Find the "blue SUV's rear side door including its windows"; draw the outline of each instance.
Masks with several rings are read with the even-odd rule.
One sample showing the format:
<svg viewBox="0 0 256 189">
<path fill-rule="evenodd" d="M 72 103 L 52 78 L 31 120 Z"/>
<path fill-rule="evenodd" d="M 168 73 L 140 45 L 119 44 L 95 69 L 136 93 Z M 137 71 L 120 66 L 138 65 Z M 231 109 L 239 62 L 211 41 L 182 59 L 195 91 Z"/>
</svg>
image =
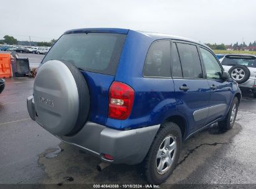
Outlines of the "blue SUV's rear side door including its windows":
<svg viewBox="0 0 256 189">
<path fill-rule="evenodd" d="M 189 133 L 204 126 L 209 111 L 210 88 L 197 45 L 173 42 L 172 76 L 178 110 L 188 118 Z"/>
</svg>

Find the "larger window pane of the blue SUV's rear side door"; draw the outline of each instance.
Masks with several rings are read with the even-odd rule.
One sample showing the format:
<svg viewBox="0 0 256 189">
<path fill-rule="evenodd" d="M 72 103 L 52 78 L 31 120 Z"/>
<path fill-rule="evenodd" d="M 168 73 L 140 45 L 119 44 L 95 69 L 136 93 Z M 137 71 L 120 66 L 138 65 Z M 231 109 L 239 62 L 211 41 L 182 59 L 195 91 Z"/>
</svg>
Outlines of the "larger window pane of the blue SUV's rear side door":
<svg viewBox="0 0 256 189">
<path fill-rule="evenodd" d="M 196 45 L 177 43 L 184 78 L 203 78 Z"/>
</svg>

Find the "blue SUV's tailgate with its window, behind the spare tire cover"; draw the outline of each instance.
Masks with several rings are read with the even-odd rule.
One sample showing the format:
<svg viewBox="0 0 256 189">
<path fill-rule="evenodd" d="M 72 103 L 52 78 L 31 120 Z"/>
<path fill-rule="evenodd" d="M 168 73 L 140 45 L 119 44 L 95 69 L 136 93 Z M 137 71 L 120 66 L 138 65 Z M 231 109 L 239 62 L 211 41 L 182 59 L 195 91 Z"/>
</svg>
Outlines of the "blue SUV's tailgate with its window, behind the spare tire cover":
<svg viewBox="0 0 256 189">
<path fill-rule="evenodd" d="M 77 67 L 90 90 L 88 121 L 105 124 L 108 116 L 108 90 L 115 80 L 116 68 L 128 30 L 81 29 L 65 32 L 45 55 L 48 60 L 65 60 Z"/>
</svg>

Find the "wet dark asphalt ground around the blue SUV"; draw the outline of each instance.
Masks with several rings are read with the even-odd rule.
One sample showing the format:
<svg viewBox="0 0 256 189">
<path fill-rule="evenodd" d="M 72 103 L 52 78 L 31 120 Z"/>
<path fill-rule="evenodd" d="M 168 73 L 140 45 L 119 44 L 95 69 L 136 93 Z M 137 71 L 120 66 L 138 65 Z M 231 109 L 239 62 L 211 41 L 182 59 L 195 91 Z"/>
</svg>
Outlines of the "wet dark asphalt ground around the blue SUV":
<svg viewBox="0 0 256 189">
<path fill-rule="evenodd" d="M 32 121 L 26 98 L 33 83 L 33 78 L 6 79 L 0 94 L 0 184 L 146 183 L 140 165 L 110 165 L 98 172 L 99 159 Z M 165 184 L 256 184 L 255 116 L 256 99 L 243 94 L 234 128 L 221 132 L 214 125 L 185 141 Z"/>
</svg>

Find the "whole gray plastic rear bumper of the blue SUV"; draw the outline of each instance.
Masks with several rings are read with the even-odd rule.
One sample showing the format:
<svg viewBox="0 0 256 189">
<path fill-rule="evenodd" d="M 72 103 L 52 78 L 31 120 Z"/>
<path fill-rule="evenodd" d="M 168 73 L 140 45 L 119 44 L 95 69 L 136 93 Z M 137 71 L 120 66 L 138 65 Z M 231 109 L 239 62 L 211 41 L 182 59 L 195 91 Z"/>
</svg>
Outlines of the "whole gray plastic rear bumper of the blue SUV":
<svg viewBox="0 0 256 189">
<path fill-rule="evenodd" d="M 37 121 L 32 96 L 27 98 L 27 110 L 31 119 Z M 133 165 L 143 161 L 159 127 L 160 125 L 156 125 L 119 131 L 88 121 L 75 136 L 57 137 L 64 142 L 77 145 L 104 162 Z M 103 154 L 111 155 L 113 160 L 105 159 Z"/>
</svg>

